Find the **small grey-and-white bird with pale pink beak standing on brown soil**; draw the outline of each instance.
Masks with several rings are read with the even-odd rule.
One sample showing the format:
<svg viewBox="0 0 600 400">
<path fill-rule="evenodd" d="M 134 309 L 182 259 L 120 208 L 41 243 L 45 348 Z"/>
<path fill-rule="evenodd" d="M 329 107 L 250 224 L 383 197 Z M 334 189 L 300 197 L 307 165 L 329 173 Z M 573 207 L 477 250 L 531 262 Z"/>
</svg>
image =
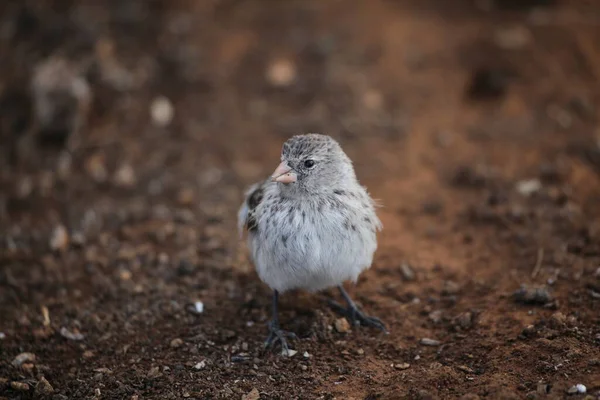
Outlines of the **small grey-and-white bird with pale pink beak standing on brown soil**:
<svg viewBox="0 0 600 400">
<path fill-rule="evenodd" d="M 238 211 L 240 236 L 259 278 L 273 291 L 272 317 L 265 348 L 289 352 L 293 332 L 281 329 L 280 294 L 301 289 L 316 293 L 337 287 L 346 307 L 331 308 L 354 325 L 388 333 L 351 299 L 343 283 L 356 283 L 370 268 L 383 226 L 377 204 L 362 186 L 350 158 L 325 134 L 308 133 L 283 143 L 281 160 L 267 179 L 251 185 Z"/>
</svg>

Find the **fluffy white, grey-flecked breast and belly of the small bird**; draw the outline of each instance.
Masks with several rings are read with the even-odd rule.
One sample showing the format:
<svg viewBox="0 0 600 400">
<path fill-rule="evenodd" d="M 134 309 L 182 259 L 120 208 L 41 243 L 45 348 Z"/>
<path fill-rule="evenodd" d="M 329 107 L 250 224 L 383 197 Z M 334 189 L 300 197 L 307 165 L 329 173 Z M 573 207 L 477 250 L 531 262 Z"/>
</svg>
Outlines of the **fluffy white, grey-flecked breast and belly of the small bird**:
<svg viewBox="0 0 600 400">
<path fill-rule="evenodd" d="M 371 265 L 379 220 L 370 199 L 360 192 L 341 200 L 298 201 L 265 193 L 249 244 L 267 285 L 280 292 L 318 291 L 356 281 Z"/>
</svg>

